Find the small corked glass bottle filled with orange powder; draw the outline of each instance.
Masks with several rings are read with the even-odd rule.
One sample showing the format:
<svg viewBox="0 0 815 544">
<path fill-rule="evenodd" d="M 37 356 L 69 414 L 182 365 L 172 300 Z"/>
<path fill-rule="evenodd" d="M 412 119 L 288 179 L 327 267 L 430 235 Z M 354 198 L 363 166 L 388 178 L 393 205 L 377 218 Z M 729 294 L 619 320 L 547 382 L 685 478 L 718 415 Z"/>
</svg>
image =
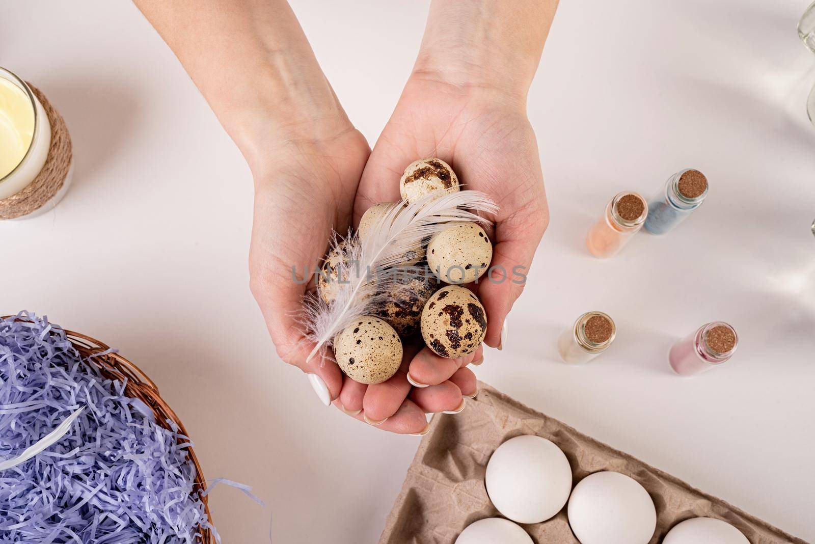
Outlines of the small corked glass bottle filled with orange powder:
<svg viewBox="0 0 815 544">
<path fill-rule="evenodd" d="M 586 247 L 594 257 L 612 257 L 637 234 L 645 217 L 648 204 L 635 192 L 616 195 L 606 206 L 606 213 L 588 230 Z"/>
</svg>

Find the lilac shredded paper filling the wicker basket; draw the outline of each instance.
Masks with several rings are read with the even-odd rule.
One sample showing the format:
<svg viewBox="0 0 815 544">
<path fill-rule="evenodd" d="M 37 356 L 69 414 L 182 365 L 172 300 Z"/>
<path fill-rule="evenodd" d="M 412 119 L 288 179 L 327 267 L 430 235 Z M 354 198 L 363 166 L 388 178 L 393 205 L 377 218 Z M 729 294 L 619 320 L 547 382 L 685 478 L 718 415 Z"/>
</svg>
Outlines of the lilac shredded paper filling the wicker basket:
<svg viewBox="0 0 815 544">
<path fill-rule="evenodd" d="M 214 531 L 192 495 L 189 438 L 83 364 L 47 318 L 19 317 L 31 322 L 0 319 L 0 459 L 85 410 L 56 444 L 0 472 L 0 542 L 170 544 Z"/>
</svg>

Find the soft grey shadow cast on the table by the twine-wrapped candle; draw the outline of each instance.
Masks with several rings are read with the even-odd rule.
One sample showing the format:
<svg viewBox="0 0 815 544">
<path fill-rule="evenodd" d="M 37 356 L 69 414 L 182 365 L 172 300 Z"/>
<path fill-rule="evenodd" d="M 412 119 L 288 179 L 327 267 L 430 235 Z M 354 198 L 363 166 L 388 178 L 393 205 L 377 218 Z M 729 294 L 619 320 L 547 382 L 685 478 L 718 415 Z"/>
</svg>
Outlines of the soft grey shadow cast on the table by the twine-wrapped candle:
<svg viewBox="0 0 815 544">
<path fill-rule="evenodd" d="M 138 116 L 136 91 L 111 79 L 35 81 L 59 110 L 71 134 L 73 186 L 81 186 L 117 160 Z"/>
</svg>

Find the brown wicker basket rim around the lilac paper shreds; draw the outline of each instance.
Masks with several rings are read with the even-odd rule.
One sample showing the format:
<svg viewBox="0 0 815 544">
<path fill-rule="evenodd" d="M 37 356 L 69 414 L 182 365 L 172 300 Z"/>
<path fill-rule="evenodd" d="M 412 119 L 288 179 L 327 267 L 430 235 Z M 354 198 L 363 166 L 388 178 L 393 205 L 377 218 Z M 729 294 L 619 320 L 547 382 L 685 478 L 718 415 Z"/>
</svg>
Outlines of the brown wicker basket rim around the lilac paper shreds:
<svg viewBox="0 0 815 544">
<path fill-rule="evenodd" d="M 15 316 L 6 316 L 4 319 L 13 317 Z M 161 398 L 161 395 L 158 393 L 158 388 L 156 387 L 156 384 L 152 382 L 152 379 L 148 378 L 147 375 L 139 370 L 138 366 L 135 366 L 126 358 L 121 357 L 121 355 L 118 353 L 107 353 L 105 355 L 90 359 L 90 356 L 95 355 L 96 353 L 104 352 L 110 349 L 110 347 L 102 342 L 99 342 L 99 340 L 91 338 L 90 336 L 86 336 L 78 332 L 68 331 L 68 329 L 63 330 L 65 331 L 65 335 L 68 337 L 68 340 L 70 340 L 71 344 L 73 344 L 73 347 L 80 353 L 82 362 L 85 364 L 94 364 L 97 366 L 97 368 L 99 368 L 102 375 L 108 378 L 119 379 L 121 381 L 126 379 L 127 384 L 125 386 L 125 393 L 130 397 L 138 398 L 140 401 L 143 401 L 145 404 L 150 406 L 153 413 L 156 415 L 156 423 L 160 424 L 164 428 L 169 428 L 166 420 L 170 419 L 176 425 L 178 425 L 178 430 L 183 435 L 187 436 L 187 430 L 184 428 L 181 420 L 178 419 L 178 415 L 175 415 L 173 409 L 170 408 L 164 399 Z M 192 450 L 192 448 L 187 448 L 187 452 L 189 454 L 189 458 L 192 460 L 192 463 L 194 463 L 196 466 L 196 490 L 198 493 L 203 492 L 206 489 L 204 473 L 201 472 L 200 463 L 198 463 L 198 458 L 196 458 L 196 453 Z M 212 515 L 209 513 L 207 498 L 200 497 L 200 500 L 201 502 L 204 502 L 204 509 L 206 511 L 207 518 L 209 519 L 209 524 L 212 524 Z M 200 528 L 199 535 L 200 542 L 203 542 L 204 544 L 215 544 L 215 535 L 212 530 Z"/>
</svg>

